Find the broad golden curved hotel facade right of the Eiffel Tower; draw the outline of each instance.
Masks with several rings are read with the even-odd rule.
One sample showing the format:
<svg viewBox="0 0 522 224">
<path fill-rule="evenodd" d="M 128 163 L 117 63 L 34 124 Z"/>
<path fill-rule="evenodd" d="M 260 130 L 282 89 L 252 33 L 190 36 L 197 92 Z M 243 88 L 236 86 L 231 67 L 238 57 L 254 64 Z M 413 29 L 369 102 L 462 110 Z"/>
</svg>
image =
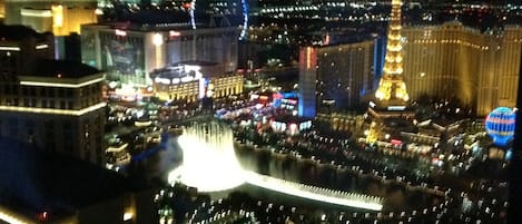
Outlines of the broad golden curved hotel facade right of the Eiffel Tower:
<svg viewBox="0 0 522 224">
<path fill-rule="evenodd" d="M 522 28 L 480 32 L 452 21 L 408 27 L 404 36 L 404 79 L 412 99 L 459 98 L 477 116 L 518 96 Z"/>
</svg>

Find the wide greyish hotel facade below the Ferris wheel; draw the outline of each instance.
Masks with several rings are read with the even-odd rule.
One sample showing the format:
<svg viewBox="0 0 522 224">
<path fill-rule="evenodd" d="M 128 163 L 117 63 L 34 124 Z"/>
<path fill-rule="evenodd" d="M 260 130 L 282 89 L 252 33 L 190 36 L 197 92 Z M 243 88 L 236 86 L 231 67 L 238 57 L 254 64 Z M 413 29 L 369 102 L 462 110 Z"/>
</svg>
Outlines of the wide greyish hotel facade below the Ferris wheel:
<svg viewBox="0 0 522 224">
<path fill-rule="evenodd" d="M 217 64 L 219 74 L 237 67 L 237 29 L 183 25 L 86 25 L 81 28 L 85 64 L 137 86 L 152 84 L 149 74 L 184 61 Z"/>
</svg>

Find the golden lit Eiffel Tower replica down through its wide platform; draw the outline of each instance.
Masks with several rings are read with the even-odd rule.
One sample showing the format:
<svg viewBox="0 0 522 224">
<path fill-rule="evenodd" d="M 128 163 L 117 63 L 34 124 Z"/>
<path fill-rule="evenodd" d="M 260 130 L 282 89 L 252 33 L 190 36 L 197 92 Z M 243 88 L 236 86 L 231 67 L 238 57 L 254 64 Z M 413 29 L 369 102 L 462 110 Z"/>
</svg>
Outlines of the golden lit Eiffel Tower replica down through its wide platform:
<svg viewBox="0 0 522 224">
<path fill-rule="evenodd" d="M 401 42 L 401 0 L 392 0 L 392 16 L 387 30 L 386 56 L 383 76 L 375 96 L 368 105 L 374 118 L 411 117 L 410 97 L 403 80 L 403 47 Z"/>
</svg>

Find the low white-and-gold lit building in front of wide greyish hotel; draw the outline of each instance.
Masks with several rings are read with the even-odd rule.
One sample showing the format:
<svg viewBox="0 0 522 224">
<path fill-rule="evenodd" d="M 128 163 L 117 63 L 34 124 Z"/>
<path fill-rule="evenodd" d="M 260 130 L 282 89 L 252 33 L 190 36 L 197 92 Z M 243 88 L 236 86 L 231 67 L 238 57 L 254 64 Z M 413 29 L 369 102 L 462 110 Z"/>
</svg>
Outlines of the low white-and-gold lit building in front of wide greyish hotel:
<svg viewBox="0 0 522 224">
<path fill-rule="evenodd" d="M 221 98 L 243 92 L 242 75 L 210 74 L 205 66 L 185 64 L 154 70 L 152 88 L 161 100 L 196 101 L 203 97 Z"/>
</svg>

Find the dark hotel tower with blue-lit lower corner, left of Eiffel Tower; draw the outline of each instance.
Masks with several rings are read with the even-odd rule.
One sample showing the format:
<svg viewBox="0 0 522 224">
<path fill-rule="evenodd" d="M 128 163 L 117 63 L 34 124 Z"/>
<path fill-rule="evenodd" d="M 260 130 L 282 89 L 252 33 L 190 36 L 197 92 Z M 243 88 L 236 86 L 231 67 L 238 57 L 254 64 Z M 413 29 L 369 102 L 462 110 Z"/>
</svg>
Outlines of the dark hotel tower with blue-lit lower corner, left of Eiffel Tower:
<svg viewBox="0 0 522 224">
<path fill-rule="evenodd" d="M 374 88 L 375 41 L 304 47 L 299 51 L 298 114 L 348 110 Z"/>
</svg>

